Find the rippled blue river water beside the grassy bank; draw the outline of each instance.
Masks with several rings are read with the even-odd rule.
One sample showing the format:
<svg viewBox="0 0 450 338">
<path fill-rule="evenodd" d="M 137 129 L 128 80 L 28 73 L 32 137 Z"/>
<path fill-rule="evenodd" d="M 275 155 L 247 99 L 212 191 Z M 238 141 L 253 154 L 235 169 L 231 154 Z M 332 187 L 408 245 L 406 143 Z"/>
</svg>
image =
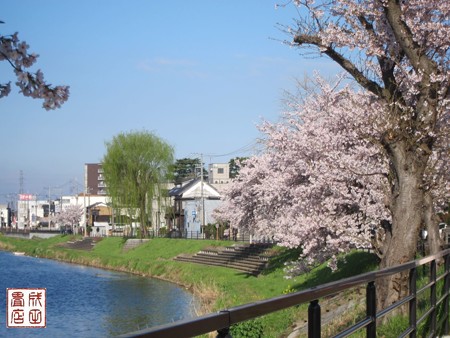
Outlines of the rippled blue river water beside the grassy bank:
<svg viewBox="0 0 450 338">
<path fill-rule="evenodd" d="M 46 288 L 47 327 L 7 328 L 6 288 Z M 0 337 L 112 337 L 194 317 L 175 284 L 0 252 Z"/>
</svg>

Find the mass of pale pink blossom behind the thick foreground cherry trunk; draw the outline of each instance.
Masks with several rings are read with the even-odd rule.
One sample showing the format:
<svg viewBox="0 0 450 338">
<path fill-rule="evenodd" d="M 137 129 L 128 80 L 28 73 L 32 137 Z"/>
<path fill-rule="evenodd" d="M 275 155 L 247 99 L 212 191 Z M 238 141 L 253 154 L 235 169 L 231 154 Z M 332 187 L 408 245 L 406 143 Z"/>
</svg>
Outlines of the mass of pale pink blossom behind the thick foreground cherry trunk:
<svg viewBox="0 0 450 338">
<path fill-rule="evenodd" d="M 317 78 L 314 91 L 295 100 L 282 122 L 260 127 L 266 152 L 246 161 L 217 211 L 233 226 L 301 247 L 293 272 L 329 258 L 333 267 L 336 255 L 353 248 L 374 249 L 380 259 L 390 249 L 391 165 L 383 145 L 390 109 L 372 93 L 341 84 Z M 446 123 L 423 179 L 422 223 L 436 230 L 431 215 L 450 196 L 448 132 Z"/>
</svg>

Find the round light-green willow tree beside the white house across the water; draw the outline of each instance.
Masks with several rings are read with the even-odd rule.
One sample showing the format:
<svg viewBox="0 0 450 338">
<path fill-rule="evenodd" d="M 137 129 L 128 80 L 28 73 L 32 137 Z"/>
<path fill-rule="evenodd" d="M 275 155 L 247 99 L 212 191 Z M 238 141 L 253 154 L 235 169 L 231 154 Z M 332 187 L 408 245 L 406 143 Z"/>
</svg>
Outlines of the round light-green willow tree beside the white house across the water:
<svg viewBox="0 0 450 338">
<path fill-rule="evenodd" d="M 102 167 L 108 194 L 114 208 L 138 218 L 141 237 L 163 206 L 173 161 L 172 146 L 147 131 L 120 133 L 106 142 Z"/>
</svg>

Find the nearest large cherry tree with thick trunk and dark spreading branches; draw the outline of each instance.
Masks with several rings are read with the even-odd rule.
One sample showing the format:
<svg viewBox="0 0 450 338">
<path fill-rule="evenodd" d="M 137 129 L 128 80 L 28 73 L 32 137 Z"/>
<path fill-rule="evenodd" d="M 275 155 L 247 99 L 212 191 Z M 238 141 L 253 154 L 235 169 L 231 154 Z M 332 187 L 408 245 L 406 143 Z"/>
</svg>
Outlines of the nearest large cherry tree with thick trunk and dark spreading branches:
<svg viewBox="0 0 450 338">
<path fill-rule="evenodd" d="M 392 226 L 384 238 L 381 266 L 404 263 L 414 257 L 424 221 L 426 177 L 440 121 L 448 123 L 450 2 L 293 3 L 299 18 L 287 27 L 290 44 L 329 57 L 388 109 L 390 128 L 381 143 L 388 156 Z M 406 278 L 382 281 L 382 305 L 405 293 Z"/>
</svg>

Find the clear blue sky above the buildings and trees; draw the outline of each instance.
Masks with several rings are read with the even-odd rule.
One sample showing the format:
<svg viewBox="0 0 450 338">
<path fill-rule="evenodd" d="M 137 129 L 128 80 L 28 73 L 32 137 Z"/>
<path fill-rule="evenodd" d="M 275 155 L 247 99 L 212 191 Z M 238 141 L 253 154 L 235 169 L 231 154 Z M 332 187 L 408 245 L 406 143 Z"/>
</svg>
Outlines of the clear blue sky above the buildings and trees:
<svg viewBox="0 0 450 338">
<path fill-rule="evenodd" d="M 176 158 L 251 155 L 256 126 L 278 118 L 295 79 L 337 72 L 281 42 L 288 37 L 277 23 L 298 14 L 275 4 L 3 0 L 0 34 L 19 32 L 40 55 L 32 70 L 69 85 L 71 95 L 56 111 L 15 86 L 0 99 L 0 203 L 19 192 L 21 171 L 26 193 L 81 191 L 84 164 L 99 162 L 120 132 L 153 132 Z M 0 74 L 0 82 L 14 82 L 6 62 Z"/>
</svg>

